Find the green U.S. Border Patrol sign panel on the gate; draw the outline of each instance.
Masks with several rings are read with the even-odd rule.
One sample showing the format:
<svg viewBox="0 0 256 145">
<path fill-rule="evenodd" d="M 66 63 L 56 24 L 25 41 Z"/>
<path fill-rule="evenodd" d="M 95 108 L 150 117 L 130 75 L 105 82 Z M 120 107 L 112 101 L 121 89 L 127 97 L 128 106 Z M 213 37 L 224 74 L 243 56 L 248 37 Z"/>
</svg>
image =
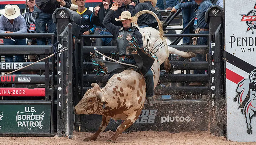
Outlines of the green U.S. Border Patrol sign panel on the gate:
<svg viewBox="0 0 256 145">
<path fill-rule="evenodd" d="M 50 133 L 51 104 L 0 105 L 0 134 Z"/>
</svg>

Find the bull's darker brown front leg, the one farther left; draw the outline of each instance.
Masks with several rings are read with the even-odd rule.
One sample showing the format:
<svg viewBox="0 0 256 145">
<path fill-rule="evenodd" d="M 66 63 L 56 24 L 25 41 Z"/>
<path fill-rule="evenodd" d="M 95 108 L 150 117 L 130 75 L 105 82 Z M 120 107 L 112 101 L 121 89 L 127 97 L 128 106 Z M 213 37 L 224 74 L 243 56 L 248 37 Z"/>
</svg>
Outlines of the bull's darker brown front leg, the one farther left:
<svg viewBox="0 0 256 145">
<path fill-rule="evenodd" d="M 101 126 L 99 127 L 98 131 L 95 134 L 93 134 L 91 137 L 85 138 L 83 141 L 96 140 L 100 135 L 100 133 L 106 129 L 109 123 L 109 120 L 110 120 L 109 117 L 102 116 Z"/>
</svg>

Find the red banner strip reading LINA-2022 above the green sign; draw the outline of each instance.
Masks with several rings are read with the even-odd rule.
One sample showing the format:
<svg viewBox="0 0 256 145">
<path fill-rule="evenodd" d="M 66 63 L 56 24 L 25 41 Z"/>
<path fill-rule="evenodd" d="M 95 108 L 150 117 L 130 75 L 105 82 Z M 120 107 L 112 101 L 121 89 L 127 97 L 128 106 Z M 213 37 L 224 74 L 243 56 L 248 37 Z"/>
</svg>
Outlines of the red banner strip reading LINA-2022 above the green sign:
<svg viewBox="0 0 256 145">
<path fill-rule="evenodd" d="M 0 96 L 45 97 L 45 88 L 0 88 Z"/>
</svg>

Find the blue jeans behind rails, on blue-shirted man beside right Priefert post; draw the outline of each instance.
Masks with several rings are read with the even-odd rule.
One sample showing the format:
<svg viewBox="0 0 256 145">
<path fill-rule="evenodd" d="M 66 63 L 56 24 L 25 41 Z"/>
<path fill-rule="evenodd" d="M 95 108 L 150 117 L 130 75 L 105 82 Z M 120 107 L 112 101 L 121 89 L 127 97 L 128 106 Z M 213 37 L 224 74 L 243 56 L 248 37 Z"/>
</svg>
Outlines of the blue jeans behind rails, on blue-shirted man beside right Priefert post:
<svg viewBox="0 0 256 145">
<path fill-rule="evenodd" d="M 209 31 L 200 31 L 199 34 L 209 34 Z M 197 45 L 207 45 L 207 37 L 198 37 Z M 191 61 L 206 61 L 205 54 L 196 54 L 196 57 L 192 57 Z M 194 70 L 194 74 L 204 74 L 205 70 Z"/>
</svg>

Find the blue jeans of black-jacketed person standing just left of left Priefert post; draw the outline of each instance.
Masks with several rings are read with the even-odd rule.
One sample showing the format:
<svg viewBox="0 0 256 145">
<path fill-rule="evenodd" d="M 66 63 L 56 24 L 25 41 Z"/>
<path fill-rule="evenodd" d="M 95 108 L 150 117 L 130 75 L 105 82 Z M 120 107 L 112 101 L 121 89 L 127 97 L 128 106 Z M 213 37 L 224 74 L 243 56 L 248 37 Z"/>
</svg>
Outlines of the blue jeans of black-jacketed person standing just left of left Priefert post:
<svg viewBox="0 0 256 145">
<path fill-rule="evenodd" d="M 52 13 L 45 13 L 41 11 L 36 6 L 34 7 L 34 11 L 38 12 L 38 18 L 36 18 L 36 33 L 46 33 L 46 24 L 48 28 L 48 33 L 55 33 L 56 31 L 56 24 L 53 23 L 53 14 Z M 45 45 L 46 39 L 37 39 L 37 45 Z M 48 39 L 48 44 L 52 44 L 52 40 Z"/>
</svg>

